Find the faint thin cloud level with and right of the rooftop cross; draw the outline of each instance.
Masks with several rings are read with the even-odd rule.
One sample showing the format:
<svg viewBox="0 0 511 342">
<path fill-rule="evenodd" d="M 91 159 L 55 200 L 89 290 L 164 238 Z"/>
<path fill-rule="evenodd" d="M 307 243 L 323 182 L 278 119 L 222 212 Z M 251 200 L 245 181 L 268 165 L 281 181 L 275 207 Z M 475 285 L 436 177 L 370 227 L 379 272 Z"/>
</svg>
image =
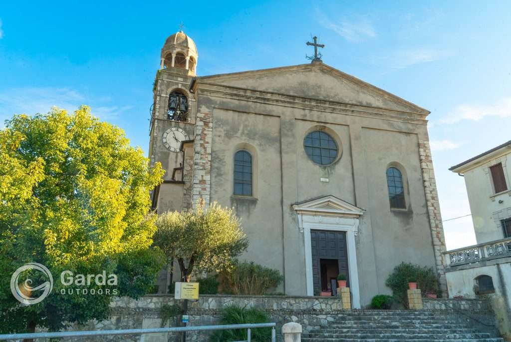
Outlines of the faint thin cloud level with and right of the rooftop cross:
<svg viewBox="0 0 511 342">
<path fill-rule="evenodd" d="M 383 63 L 393 69 L 404 69 L 410 65 L 433 62 L 454 55 L 452 51 L 432 48 L 400 49 L 380 57 Z"/>
</svg>

